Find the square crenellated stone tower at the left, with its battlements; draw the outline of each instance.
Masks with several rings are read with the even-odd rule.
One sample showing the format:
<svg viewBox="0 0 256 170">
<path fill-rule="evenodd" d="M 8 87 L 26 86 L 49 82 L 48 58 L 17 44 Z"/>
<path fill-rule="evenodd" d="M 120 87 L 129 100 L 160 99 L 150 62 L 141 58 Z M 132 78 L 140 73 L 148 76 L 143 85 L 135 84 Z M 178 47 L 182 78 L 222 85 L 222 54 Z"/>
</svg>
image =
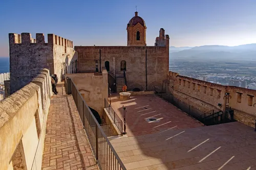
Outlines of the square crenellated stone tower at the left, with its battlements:
<svg viewBox="0 0 256 170">
<path fill-rule="evenodd" d="M 57 74 L 61 80 L 65 64 L 70 72 L 75 55 L 73 42 L 54 34 L 48 34 L 45 43 L 41 33 L 36 34 L 36 39 L 30 33 L 10 33 L 9 46 L 11 94 L 28 84 L 42 68 L 48 68 L 50 74 Z"/>
</svg>

